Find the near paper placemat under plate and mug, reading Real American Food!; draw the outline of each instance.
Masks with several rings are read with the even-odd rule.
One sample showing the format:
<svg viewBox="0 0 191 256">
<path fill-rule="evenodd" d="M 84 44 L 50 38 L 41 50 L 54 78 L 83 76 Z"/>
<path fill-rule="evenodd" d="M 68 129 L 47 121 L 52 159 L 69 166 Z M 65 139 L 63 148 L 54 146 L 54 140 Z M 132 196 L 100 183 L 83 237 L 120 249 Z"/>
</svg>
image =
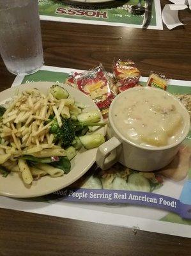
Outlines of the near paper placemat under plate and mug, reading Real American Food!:
<svg viewBox="0 0 191 256">
<path fill-rule="evenodd" d="M 13 86 L 33 81 L 65 82 L 70 68 L 43 66 L 29 76 L 17 76 Z M 141 83 L 147 81 L 141 77 Z M 191 81 L 171 80 L 168 91 L 190 93 Z M 191 133 L 184 141 L 191 147 Z M 66 188 L 54 194 L 32 199 L 0 197 L 0 207 L 47 214 L 75 220 L 118 225 L 134 229 L 191 237 L 191 169 L 179 181 L 163 177 L 162 186 L 151 193 L 111 189 Z M 88 175 L 91 176 L 91 170 Z M 2 178 L 6 179 L 6 178 Z"/>
</svg>

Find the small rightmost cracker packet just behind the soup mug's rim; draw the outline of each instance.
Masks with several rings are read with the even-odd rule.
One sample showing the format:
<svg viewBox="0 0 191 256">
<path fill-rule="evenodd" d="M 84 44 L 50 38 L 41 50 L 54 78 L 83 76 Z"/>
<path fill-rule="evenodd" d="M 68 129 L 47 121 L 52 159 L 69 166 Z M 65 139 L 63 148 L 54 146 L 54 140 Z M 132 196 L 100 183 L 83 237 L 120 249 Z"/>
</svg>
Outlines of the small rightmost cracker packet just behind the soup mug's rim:
<svg viewBox="0 0 191 256">
<path fill-rule="evenodd" d="M 169 79 L 164 74 L 151 71 L 146 86 L 167 90 L 168 83 Z"/>
</svg>

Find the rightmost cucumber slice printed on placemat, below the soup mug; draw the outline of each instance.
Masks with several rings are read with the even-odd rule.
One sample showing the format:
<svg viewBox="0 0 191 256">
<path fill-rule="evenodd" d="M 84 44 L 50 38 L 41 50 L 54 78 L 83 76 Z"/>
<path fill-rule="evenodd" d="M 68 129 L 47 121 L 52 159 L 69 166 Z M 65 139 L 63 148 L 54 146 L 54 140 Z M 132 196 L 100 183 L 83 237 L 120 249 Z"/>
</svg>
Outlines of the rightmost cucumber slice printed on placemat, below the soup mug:
<svg viewBox="0 0 191 256">
<path fill-rule="evenodd" d="M 140 173 L 132 173 L 128 177 L 128 190 L 151 192 L 149 180 L 142 176 Z"/>
</svg>

